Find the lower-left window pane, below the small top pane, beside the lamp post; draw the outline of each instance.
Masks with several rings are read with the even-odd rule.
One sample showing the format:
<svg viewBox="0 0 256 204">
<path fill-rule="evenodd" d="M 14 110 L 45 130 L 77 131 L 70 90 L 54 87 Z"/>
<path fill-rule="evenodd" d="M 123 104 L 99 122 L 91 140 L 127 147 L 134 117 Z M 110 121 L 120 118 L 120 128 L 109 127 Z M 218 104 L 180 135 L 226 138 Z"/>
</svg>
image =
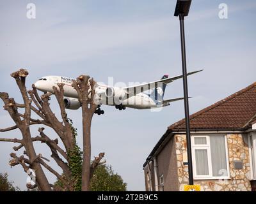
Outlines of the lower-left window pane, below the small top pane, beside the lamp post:
<svg viewBox="0 0 256 204">
<path fill-rule="evenodd" d="M 197 175 L 209 175 L 207 150 L 196 149 L 195 156 L 196 156 L 196 174 Z"/>
</svg>

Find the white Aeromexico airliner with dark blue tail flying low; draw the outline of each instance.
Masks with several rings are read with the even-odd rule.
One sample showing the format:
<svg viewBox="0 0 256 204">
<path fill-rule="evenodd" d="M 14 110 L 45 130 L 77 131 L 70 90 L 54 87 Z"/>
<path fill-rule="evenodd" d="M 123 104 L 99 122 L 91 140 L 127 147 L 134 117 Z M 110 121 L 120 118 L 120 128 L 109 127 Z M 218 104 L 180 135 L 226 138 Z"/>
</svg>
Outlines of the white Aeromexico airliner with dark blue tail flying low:
<svg viewBox="0 0 256 204">
<path fill-rule="evenodd" d="M 203 69 L 190 72 L 187 75 L 193 75 L 200 71 L 203 71 Z M 160 80 L 140 85 L 132 85 L 129 87 L 111 87 L 96 83 L 94 101 L 97 104 L 97 109 L 95 113 L 98 115 L 104 114 L 104 110 L 100 109 L 101 105 L 115 106 L 115 108 L 118 110 L 125 110 L 126 107 L 135 109 L 150 109 L 169 106 L 173 101 L 184 99 L 163 99 L 166 85 L 179 78 L 183 78 L 183 76 L 179 75 L 169 78 L 168 75 L 164 75 Z M 78 99 L 79 97 L 76 89 L 72 87 L 73 80 L 74 78 L 69 77 L 47 76 L 36 81 L 35 87 L 39 91 L 52 93 L 53 86 L 58 87 L 58 83 L 65 84 L 63 87 L 65 108 L 77 110 L 81 107 L 81 103 Z M 152 90 L 152 92 L 145 93 L 146 91 L 150 90 Z"/>
</svg>

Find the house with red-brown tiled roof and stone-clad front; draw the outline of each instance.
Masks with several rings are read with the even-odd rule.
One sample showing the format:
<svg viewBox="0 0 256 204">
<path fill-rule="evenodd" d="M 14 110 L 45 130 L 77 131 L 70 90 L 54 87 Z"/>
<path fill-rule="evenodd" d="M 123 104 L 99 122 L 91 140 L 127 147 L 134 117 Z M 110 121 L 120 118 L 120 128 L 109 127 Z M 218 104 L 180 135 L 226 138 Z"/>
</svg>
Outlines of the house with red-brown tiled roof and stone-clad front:
<svg viewBox="0 0 256 204">
<path fill-rule="evenodd" d="M 256 182 L 256 82 L 190 115 L 190 127 L 194 184 L 201 191 L 251 191 Z M 143 169 L 146 191 L 184 191 L 184 119 L 168 127 Z"/>
</svg>

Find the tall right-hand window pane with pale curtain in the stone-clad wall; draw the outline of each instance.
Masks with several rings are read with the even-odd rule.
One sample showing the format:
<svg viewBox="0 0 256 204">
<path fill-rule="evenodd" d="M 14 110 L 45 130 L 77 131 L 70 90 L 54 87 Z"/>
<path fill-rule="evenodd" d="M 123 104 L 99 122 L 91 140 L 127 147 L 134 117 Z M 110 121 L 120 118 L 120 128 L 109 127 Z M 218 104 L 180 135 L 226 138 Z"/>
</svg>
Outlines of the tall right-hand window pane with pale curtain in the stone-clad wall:
<svg viewBox="0 0 256 204">
<path fill-rule="evenodd" d="M 227 176 L 227 158 L 225 136 L 211 135 L 212 175 L 214 177 Z"/>
</svg>

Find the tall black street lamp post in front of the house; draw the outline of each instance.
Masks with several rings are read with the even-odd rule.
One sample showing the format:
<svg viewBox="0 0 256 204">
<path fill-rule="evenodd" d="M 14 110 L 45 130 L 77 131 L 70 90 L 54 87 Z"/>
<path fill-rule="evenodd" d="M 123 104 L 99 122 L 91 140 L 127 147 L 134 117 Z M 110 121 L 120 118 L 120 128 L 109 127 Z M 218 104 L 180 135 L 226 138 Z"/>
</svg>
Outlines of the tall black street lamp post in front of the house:
<svg viewBox="0 0 256 204">
<path fill-rule="evenodd" d="M 188 176 L 189 185 L 193 185 L 193 168 L 192 168 L 192 154 L 191 154 L 191 138 L 189 125 L 189 103 L 188 103 L 188 80 L 187 80 L 187 65 L 186 65 L 186 48 L 185 48 L 185 34 L 184 34 L 184 17 L 188 16 L 191 0 L 177 0 L 175 13 L 180 20 L 180 41 L 182 54 L 182 74 L 183 74 L 183 89 L 184 89 L 184 108 L 186 120 L 186 139 L 188 150 Z"/>
</svg>

